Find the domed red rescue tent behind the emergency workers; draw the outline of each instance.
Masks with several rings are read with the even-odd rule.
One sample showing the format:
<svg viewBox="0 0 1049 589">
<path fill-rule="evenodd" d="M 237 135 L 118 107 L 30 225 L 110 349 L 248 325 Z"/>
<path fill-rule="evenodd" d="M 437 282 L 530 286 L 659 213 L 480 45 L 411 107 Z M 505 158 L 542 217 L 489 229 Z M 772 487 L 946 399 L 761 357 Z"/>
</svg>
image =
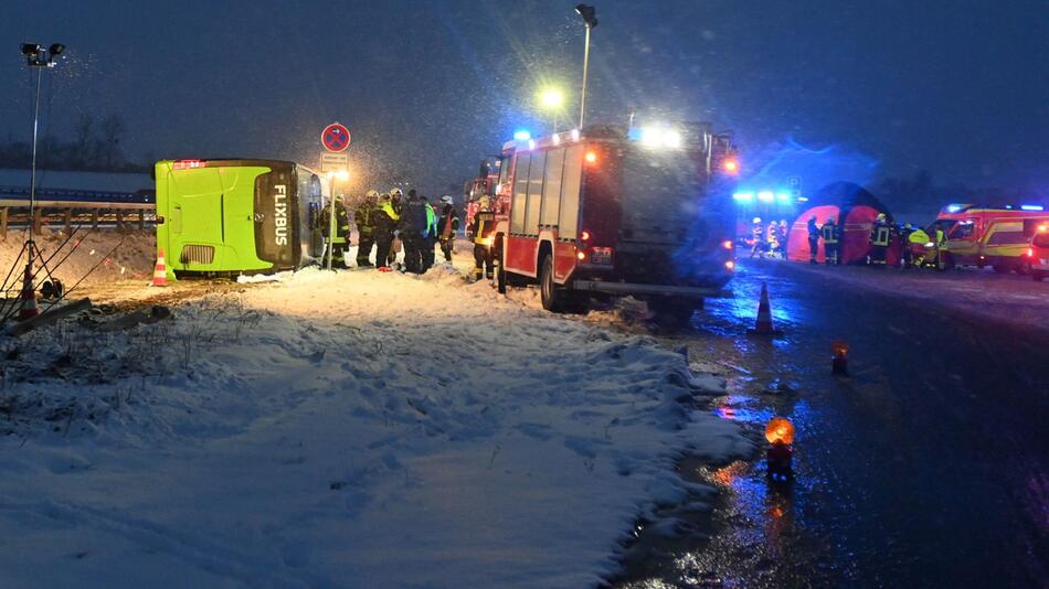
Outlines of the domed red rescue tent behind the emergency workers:
<svg viewBox="0 0 1049 589">
<path fill-rule="evenodd" d="M 892 215 L 881 201 L 858 184 L 851 182 L 835 182 L 825 186 L 809 200 L 809 207 L 802 212 L 791 225 L 787 236 L 787 259 L 808 261 L 808 219 L 816 217 L 816 225 L 823 227 L 828 218 L 841 227 L 840 253 L 841 264 L 854 264 L 867 259 L 870 249 L 870 228 L 884 213 L 889 221 Z M 819 239 L 816 260 L 823 263 L 823 238 Z M 899 255 L 899 254 L 897 254 Z M 889 256 L 892 263 L 891 255 Z"/>
</svg>

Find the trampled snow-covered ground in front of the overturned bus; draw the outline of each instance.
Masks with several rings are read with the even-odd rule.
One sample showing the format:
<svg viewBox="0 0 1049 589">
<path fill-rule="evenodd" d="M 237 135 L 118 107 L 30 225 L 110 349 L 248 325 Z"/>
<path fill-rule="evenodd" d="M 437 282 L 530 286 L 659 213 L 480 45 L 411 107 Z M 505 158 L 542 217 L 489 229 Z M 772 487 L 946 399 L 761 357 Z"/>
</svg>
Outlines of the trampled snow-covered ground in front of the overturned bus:
<svg viewBox="0 0 1049 589">
<path fill-rule="evenodd" d="M 594 585 L 710 492 L 680 452 L 752 450 L 648 339 L 446 266 L 282 278 L 0 340 L 4 587 Z"/>
</svg>

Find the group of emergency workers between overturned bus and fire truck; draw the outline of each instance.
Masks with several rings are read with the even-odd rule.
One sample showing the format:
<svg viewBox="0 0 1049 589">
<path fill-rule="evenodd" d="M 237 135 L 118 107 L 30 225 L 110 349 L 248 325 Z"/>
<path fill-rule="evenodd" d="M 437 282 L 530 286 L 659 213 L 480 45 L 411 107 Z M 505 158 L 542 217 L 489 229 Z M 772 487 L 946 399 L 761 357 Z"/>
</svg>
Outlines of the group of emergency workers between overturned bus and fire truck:
<svg viewBox="0 0 1049 589">
<path fill-rule="evenodd" d="M 423 274 L 433 267 L 436 258 L 434 248 L 438 244 L 445 261 L 452 261 L 455 234 L 459 228 L 459 214 L 452 196 L 442 196 L 439 208 L 414 190 L 407 192 L 406 200 L 403 196 L 403 192 L 398 188 L 382 194 L 370 190 L 353 210 L 353 223 L 359 235 L 358 267 L 378 266 L 382 271 L 399 269 Z M 329 238 L 330 207 L 329 203 L 320 213 L 321 234 L 330 244 L 335 264 L 347 268 L 345 255 L 349 249 L 350 216 L 343 196 L 335 199 L 335 238 Z M 371 263 L 373 247 L 374 264 Z M 402 251 L 404 261 L 399 265 L 398 254 Z"/>
</svg>

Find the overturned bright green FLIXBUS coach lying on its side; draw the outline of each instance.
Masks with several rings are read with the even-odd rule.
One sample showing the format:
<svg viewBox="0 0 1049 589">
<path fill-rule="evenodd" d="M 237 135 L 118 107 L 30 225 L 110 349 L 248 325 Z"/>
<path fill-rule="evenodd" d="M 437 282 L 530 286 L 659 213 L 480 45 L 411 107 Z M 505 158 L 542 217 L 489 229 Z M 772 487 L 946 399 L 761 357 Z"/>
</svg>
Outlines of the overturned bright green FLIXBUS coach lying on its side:
<svg viewBox="0 0 1049 589">
<path fill-rule="evenodd" d="M 322 182 L 276 160 L 156 164 L 157 247 L 169 279 L 234 277 L 312 264 L 324 253 Z"/>
</svg>

